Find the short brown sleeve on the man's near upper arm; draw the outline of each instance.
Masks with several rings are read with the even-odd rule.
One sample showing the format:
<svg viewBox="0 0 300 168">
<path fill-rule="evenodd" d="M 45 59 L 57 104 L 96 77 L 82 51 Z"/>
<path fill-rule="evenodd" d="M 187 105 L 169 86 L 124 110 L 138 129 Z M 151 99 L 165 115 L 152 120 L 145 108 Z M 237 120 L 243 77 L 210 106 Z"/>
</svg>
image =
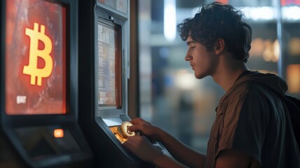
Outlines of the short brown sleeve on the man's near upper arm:
<svg viewBox="0 0 300 168">
<path fill-rule="evenodd" d="M 261 149 L 268 125 L 268 106 L 257 92 L 229 97 L 216 155 L 225 149 L 242 151 L 261 162 Z"/>
</svg>

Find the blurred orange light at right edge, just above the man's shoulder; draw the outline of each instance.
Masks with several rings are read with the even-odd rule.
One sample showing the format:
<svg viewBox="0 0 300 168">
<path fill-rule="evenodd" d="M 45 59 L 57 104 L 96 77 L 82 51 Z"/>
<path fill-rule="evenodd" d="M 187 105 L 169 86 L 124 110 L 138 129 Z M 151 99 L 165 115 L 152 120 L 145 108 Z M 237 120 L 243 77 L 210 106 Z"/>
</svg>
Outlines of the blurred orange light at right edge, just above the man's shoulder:
<svg viewBox="0 0 300 168">
<path fill-rule="evenodd" d="M 300 64 L 290 64 L 287 66 L 287 84 L 290 93 L 300 92 Z"/>
</svg>

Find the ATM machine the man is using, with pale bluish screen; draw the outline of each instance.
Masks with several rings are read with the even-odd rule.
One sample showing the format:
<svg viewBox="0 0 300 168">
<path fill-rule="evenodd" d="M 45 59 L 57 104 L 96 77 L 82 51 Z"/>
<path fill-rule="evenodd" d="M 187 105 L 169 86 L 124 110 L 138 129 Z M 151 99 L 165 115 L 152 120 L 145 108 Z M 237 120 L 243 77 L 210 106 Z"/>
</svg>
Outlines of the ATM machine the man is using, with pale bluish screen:
<svg viewBox="0 0 300 168">
<path fill-rule="evenodd" d="M 117 127 L 131 120 L 129 2 L 79 2 L 79 121 L 97 167 L 152 167 L 125 150 L 122 141 L 126 139 L 117 134 Z M 153 145 L 163 151 L 160 144 Z"/>
</svg>

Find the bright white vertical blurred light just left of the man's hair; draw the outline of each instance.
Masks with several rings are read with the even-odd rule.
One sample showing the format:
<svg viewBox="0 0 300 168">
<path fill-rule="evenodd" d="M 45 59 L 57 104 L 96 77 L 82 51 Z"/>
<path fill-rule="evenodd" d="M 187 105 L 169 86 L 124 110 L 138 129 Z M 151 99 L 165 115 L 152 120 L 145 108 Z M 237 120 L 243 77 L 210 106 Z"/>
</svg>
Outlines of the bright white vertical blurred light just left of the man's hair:
<svg viewBox="0 0 300 168">
<path fill-rule="evenodd" d="M 167 41 L 176 38 L 176 1 L 164 0 L 164 37 Z"/>
</svg>

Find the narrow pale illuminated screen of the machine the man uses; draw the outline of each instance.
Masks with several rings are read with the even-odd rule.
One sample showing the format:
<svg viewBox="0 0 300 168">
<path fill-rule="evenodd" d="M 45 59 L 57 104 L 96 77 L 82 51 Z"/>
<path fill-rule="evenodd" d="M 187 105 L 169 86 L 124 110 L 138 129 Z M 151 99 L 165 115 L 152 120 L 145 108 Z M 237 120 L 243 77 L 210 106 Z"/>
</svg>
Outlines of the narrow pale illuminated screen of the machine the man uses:
<svg viewBox="0 0 300 168">
<path fill-rule="evenodd" d="M 98 104 L 121 106 L 120 26 L 98 22 Z"/>
</svg>

